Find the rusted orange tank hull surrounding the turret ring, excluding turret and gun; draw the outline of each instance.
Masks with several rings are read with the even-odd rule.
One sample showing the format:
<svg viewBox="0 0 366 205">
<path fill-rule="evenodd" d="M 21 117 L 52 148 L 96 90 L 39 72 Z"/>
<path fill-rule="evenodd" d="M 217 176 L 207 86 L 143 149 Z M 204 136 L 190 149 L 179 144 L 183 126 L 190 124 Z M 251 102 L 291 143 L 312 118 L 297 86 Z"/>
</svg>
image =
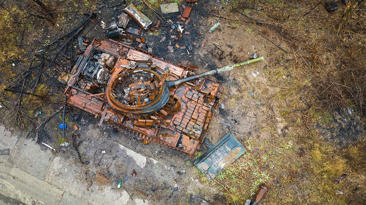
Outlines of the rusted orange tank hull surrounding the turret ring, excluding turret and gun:
<svg viewBox="0 0 366 205">
<path fill-rule="evenodd" d="M 86 84 L 81 76 L 96 51 L 115 57 L 116 63 L 111 69 L 108 84 L 95 85 L 96 88 L 91 92 L 90 87 L 93 85 Z M 184 83 L 178 88 L 170 89 L 170 96 L 179 99 L 180 105 L 178 111 L 170 115 L 164 113 L 167 112 L 166 109 L 142 116 L 116 112 L 113 105 L 108 104 L 105 88 L 123 69 L 121 65 L 128 65 L 129 61 L 138 62 L 138 67 L 148 68 L 153 64 L 154 67 L 156 66 L 154 71 L 160 74 L 168 68 L 167 80 L 187 77 L 187 74 L 192 71 L 188 67 L 174 65 L 154 57 L 152 53 L 111 39 L 94 39 L 72 69 L 72 76 L 65 90 L 68 97 L 67 103 L 100 117 L 100 125 L 104 121 L 134 138 L 161 144 L 190 156 L 196 155 L 203 140 L 202 132 L 208 130 L 213 117 L 212 109 L 217 107 L 217 101 L 223 90 L 222 86 L 207 78 L 199 78 L 195 82 Z"/>
</svg>

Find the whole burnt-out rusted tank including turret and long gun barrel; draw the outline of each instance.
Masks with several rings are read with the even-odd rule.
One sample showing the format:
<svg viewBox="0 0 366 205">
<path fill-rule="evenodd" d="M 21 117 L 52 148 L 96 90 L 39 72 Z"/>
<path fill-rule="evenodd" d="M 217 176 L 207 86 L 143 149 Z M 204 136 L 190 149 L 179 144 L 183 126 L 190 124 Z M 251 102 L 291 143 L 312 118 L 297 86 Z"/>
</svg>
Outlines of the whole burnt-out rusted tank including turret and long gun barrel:
<svg viewBox="0 0 366 205">
<path fill-rule="evenodd" d="M 263 57 L 194 74 L 144 50 L 111 39 L 94 39 L 67 81 L 67 103 L 113 127 L 194 156 L 203 142 L 223 87 L 205 76 Z M 195 69 L 194 69 L 195 68 Z"/>
</svg>

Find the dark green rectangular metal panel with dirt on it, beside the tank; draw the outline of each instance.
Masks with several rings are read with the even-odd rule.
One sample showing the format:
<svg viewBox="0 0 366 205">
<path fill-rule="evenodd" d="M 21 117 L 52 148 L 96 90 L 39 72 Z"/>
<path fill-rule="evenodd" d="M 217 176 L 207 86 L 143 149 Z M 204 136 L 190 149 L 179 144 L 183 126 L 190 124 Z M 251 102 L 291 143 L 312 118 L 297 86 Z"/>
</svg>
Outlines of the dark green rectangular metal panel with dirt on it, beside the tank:
<svg viewBox="0 0 366 205">
<path fill-rule="evenodd" d="M 200 156 L 194 165 L 212 181 L 225 167 L 238 159 L 246 149 L 230 132 Z"/>
</svg>

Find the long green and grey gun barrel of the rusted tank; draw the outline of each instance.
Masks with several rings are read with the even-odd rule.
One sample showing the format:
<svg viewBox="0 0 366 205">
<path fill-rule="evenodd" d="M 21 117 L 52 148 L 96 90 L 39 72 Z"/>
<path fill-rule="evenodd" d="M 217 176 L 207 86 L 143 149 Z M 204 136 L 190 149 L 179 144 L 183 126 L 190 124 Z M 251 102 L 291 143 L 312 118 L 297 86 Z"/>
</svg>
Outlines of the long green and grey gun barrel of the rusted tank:
<svg viewBox="0 0 366 205">
<path fill-rule="evenodd" d="M 231 65 L 228 65 L 228 66 L 220 67 L 218 69 L 207 71 L 205 73 L 200 73 L 200 74 L 197 74 L 197 75 L 194 75 L 194 76 L 190 76 L 190 77 L 186 77 L 186 78 L 182 78 L 182 79 L 178 79 L 178 80 L 174 80 L 174 81 L 166 81 L 166 83 L 167 83 L 168 88 L 172 88 L 172 87 L 178 86 L 178 85 L 180 85 L 184 82 L 189 82 L 189 81 L 201 78 L 201 77 L 210 76 L 210 75 L 217 74 L 217 73 L 223 73 L 223 72 L 226 72 L 226 71 L 230 71 L 230 70 L 232 70 L 236 67 L 248 65 L 250 63 L 263 61 L 263 60 L 264 60 L 263 57 L 250 59 L 249 61 L 244 61 L 244 62 L 241 62 L 241 63 L 231 64 Z"/>
</svg>

